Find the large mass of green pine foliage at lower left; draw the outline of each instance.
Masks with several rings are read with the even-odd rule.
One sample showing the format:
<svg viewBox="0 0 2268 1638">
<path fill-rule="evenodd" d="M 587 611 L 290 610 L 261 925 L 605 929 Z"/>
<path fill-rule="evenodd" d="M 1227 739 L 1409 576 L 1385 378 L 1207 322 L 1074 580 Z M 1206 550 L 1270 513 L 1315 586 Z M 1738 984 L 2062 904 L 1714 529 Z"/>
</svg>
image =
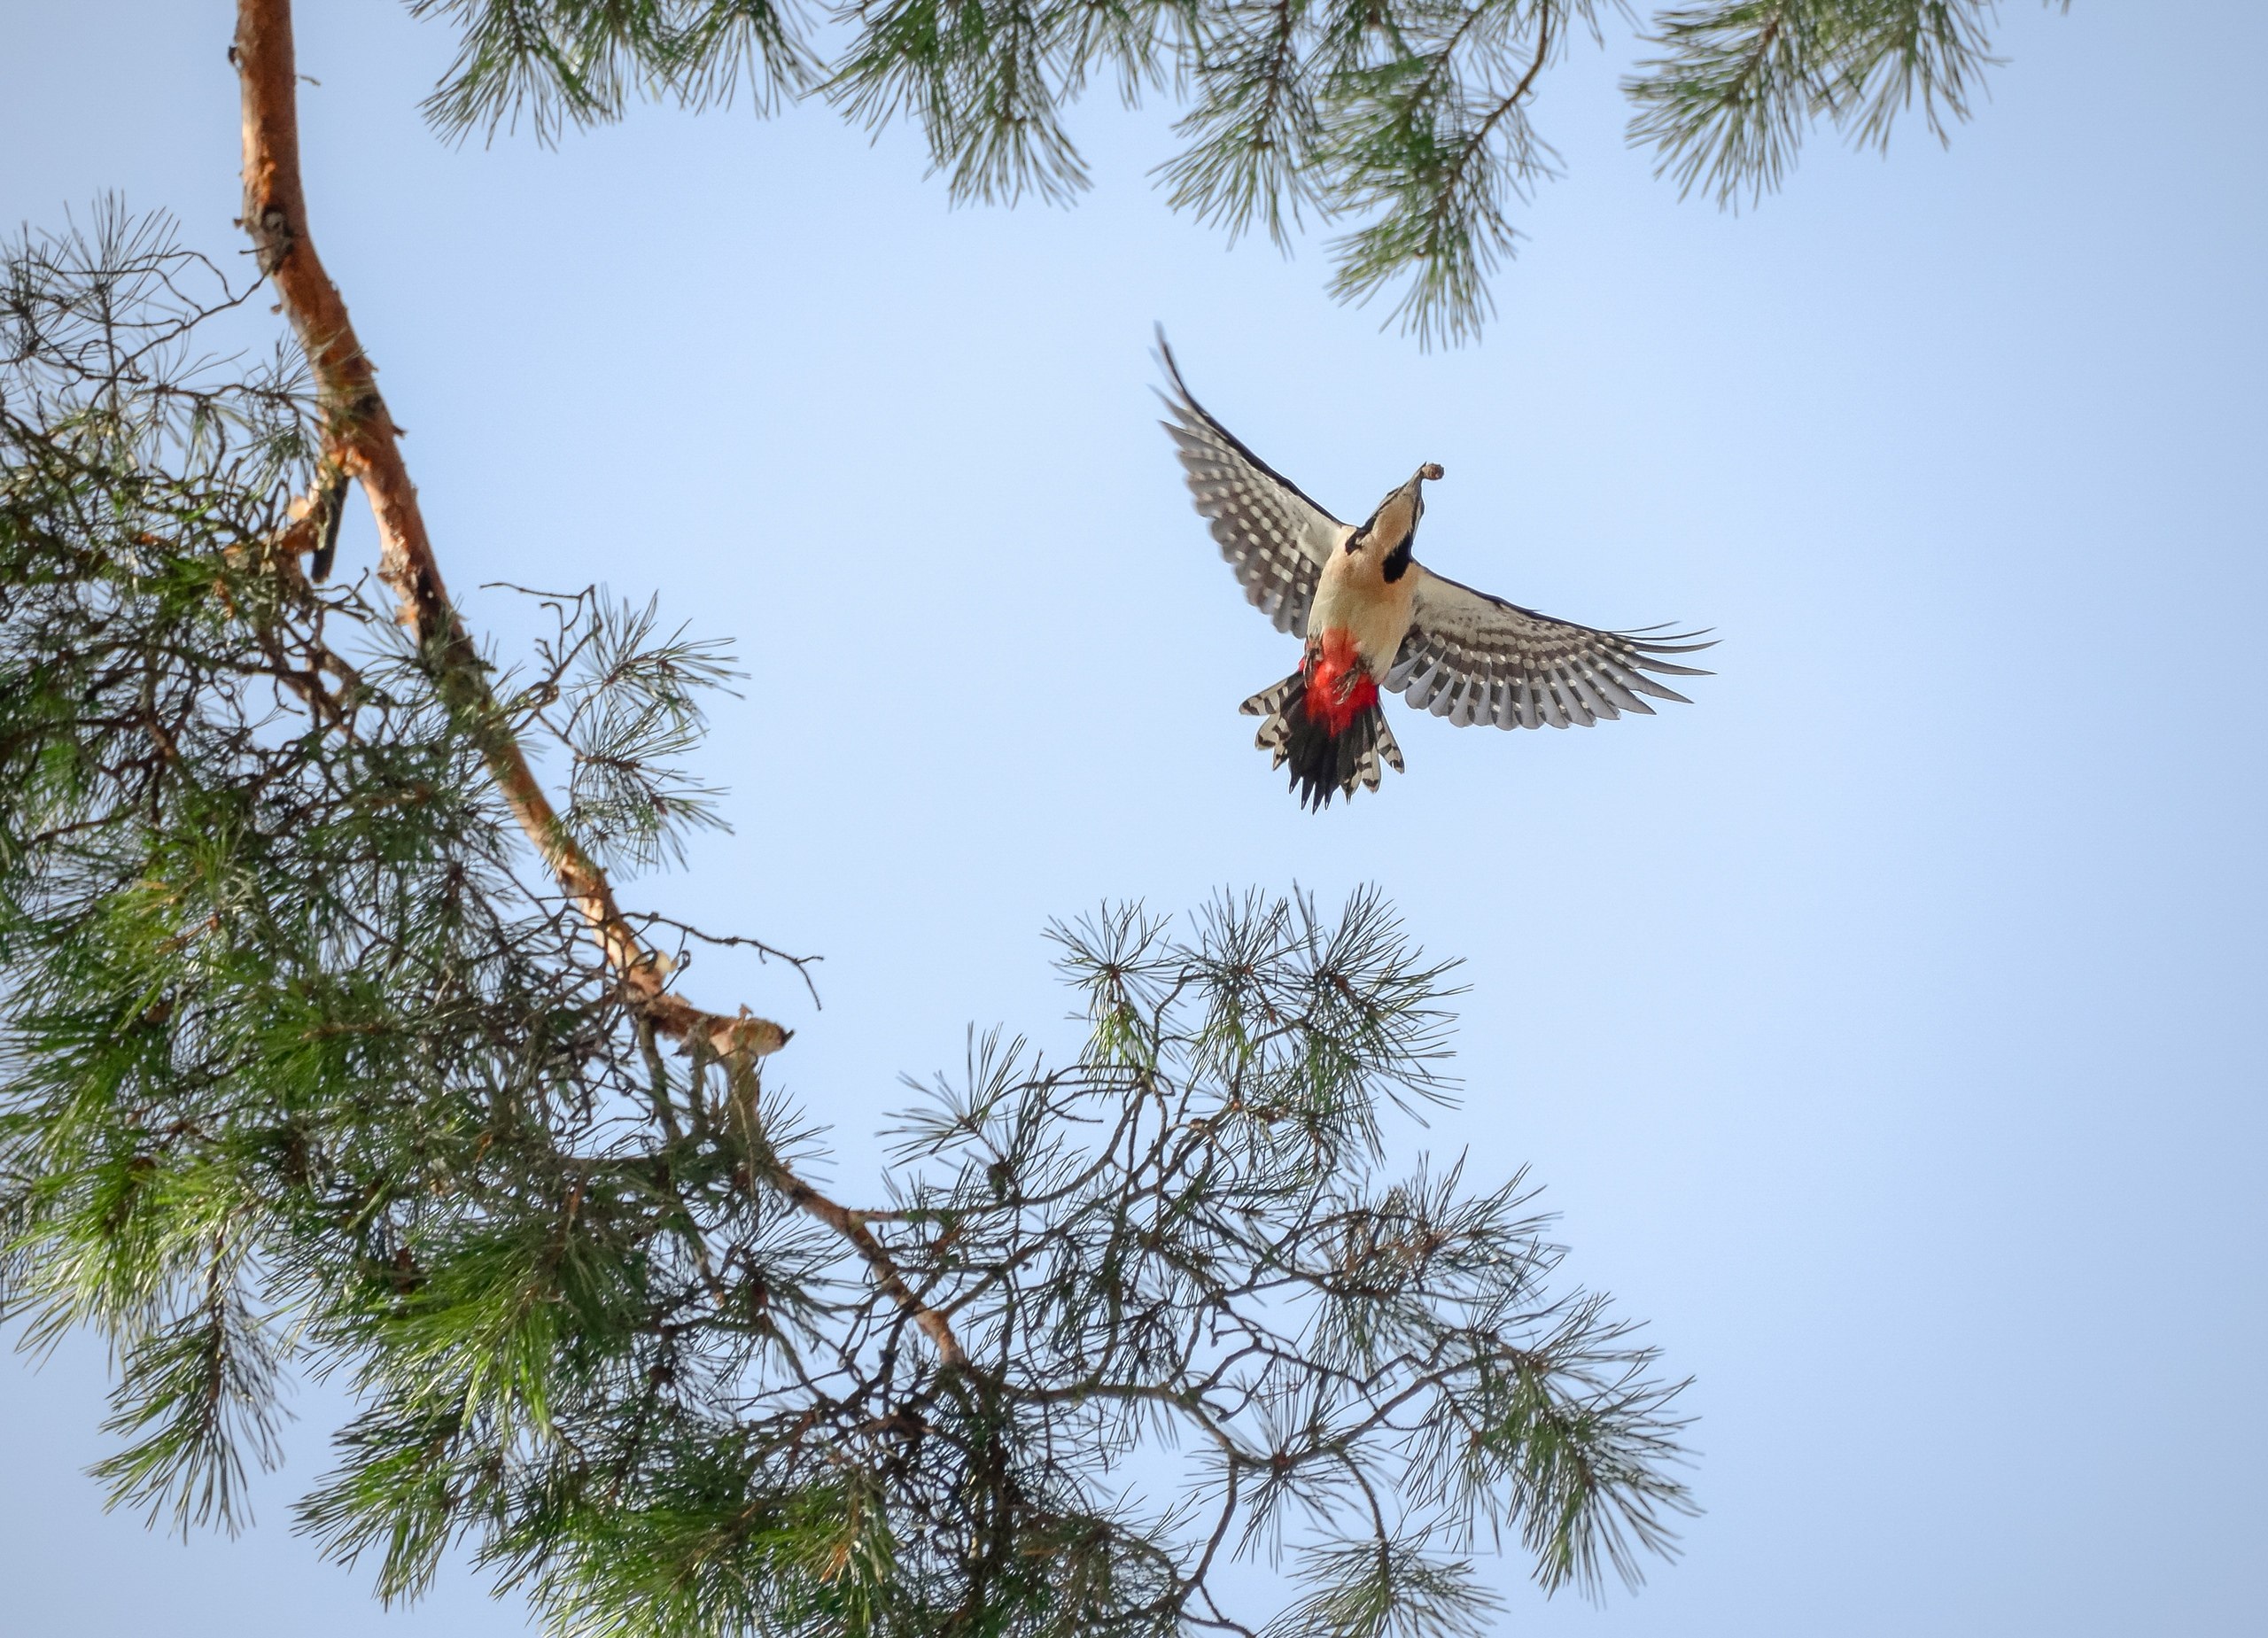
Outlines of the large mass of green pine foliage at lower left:
<svg viewBox="0 0 2268 1638">
<path fill-rule="evenodd" d="M 324 411 L 204 361 L 240 299 L 116 213 L 0 290 L 0 1302 L 113 1343 L 120 1502 L 234 1525 L 311 1373 L 304 1529 L 560 1633 L 1256 1631 L 1247 1559 L 1286 1638 L 1465 1633 L 1476 1547 L 1667 1547 L 1651 1352 L 1517 1177 L 1386 1164 L 1452 991 L 1377 896 L 1055 928 L 1086 1039 L 973 1039 L 826 1200 L 488 778 L 549 746 L 590 855 L 662 858 L 721 656 L 585 594 L 438 687 L 302 576 Z"/>
</svg>

